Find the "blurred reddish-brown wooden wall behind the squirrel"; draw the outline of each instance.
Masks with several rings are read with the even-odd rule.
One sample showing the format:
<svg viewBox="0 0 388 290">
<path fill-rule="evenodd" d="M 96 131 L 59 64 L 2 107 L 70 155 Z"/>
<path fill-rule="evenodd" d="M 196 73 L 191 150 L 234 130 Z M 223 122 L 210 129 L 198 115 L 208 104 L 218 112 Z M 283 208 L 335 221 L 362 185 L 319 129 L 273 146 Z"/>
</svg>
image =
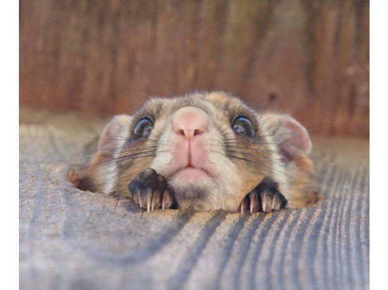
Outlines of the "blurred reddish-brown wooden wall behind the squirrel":
<svg viewBox="0 0 388 290">
<path fill-rule="evenodd" d="M 223 90 L 369 136 L 369 1 L 19 3 L 21 105 L 133 113 L 146 94 Z"/>
</svg>

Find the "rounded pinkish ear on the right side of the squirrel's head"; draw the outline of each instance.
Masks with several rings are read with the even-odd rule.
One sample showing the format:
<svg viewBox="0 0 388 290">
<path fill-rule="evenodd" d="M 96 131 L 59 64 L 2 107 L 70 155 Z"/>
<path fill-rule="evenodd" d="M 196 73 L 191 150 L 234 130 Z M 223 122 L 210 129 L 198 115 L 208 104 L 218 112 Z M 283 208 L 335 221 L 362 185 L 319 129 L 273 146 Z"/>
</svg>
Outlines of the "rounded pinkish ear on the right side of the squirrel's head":
<svg viewBox="0 0 388 290">
<path fill-rule="evenodd" d="M 290 115 L 265 114 L 261 120 L 264 135 L 278 145 L 287 161 L 310 154 L 312 144 L 306 128 Z"/>
</svg>

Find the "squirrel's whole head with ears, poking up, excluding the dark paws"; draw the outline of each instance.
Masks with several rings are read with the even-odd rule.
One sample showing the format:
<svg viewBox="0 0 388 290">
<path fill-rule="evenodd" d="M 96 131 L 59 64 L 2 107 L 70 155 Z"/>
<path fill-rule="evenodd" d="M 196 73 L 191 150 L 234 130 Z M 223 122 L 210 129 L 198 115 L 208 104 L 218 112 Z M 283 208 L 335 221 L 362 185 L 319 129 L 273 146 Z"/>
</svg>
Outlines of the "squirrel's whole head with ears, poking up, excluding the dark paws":
<svg viewBox="0 0 388 290">
<path fill-rule="evenodd" d="M 152 98 L 135 115 L 114 117 L 89 167 L 69 179 L 130 195 L 131 180 L 150 167 L 171 185 L 179 208 L 236 210 L 271 177 L 298 207 L 315 191 L 310 149 L 306 129 L 290 116 L 257 113 L 225 93 Z"/>
</svg>

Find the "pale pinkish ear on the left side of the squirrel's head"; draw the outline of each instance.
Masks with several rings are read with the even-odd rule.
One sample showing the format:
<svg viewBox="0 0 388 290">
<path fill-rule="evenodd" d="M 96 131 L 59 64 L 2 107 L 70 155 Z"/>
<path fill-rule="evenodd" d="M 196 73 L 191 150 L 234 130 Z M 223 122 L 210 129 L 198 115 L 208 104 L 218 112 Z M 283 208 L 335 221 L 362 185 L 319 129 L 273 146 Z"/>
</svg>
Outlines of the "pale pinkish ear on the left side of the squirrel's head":
<svg viewBox="0 0 388 290">
<path fill-rule="evenodd" d="M 117 149 L 124 145 L 128 135 L 132 117 L 129 115 L 114 116 L 105 126 L 98 140 L 98 152 L 106 157 L 113 156 Z"/>
</svg>

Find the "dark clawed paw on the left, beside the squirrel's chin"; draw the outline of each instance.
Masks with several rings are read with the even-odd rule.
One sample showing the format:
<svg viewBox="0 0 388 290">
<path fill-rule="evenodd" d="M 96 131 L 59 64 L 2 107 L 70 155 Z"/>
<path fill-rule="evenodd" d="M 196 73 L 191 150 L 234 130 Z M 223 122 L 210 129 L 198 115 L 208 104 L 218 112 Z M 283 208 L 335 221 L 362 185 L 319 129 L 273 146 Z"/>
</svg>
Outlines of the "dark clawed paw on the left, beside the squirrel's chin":
<svg viewBox="0 0 388 290">
<path fill-rule="evenodd" d="M 128 186 L 134 202 L 147 212 L 174 206 L 174 190 L 166 179 L 152 168 L 139 173 Z"/>
</svg>

